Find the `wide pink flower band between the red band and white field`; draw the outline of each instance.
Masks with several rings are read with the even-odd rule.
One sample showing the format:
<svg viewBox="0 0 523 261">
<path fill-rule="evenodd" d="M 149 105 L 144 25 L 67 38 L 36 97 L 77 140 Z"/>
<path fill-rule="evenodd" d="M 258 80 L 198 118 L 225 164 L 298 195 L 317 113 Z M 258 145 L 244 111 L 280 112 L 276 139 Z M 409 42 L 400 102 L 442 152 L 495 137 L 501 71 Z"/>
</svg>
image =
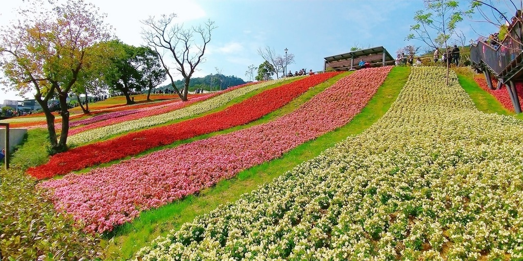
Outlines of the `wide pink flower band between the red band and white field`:
<svg viewBox="0 0 523 261">
<path fill-rule="evenodd" d="M 42 182 L 57 210 L 86 231 L 110 231 L 142 210 L 160 207 L 347 124 L 372 98 L 391 67 L 359 70 L 277 120 Z M 125 145 L 122 145 L 125 146 Z"/>
</svg>

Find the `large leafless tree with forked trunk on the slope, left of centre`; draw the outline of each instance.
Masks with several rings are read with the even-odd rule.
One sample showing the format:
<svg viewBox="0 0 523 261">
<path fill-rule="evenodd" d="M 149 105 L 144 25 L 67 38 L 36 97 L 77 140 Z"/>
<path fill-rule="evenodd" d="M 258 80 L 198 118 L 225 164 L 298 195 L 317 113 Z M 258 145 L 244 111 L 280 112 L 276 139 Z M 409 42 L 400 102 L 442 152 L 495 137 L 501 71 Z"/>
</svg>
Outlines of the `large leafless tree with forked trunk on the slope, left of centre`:
<svg viewBox="0 0 523 261">
<path fill-rule="evenodd" d="M 160 57 L 176 94 L 181 100 L 187 101 L 190 78 L 196 67 L 203 62 L 207 44 L 211 41 L 211 32 L 217 27 L 214 26 L 214 21 L 207 20 L 203 26 L 184 28 L 183 24 L 174 23 L 174 18 L 176 14 L 162 15 L 158 19 L 149 17 L 141 21 L 146 26 L 142 30 L 142 37 Z M 174 84 L 174 72 L 166 61 L 165 54 L 174 58 L 175 71 L 184 77 L 181 92 Z"/>
</svg>

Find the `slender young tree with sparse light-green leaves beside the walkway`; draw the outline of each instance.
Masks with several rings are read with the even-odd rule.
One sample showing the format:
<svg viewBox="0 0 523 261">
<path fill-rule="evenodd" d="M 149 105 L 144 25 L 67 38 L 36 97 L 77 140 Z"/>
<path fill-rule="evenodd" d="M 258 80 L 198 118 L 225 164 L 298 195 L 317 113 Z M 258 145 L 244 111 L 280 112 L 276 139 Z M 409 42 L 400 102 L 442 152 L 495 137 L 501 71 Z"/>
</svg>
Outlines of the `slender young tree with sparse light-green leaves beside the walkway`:
<svg viewBox="0 0 523 261">
<path fill-rule="evenodd" d="M 454 0 L 424 0 L 425 9 L 416 11 L 415 25 L 407 40 L 419 40 L 431 48 L 448 48 L 448 40 L 455 33 L 456 24 L 463 20 L 459 2 Z M 447 85 L 449 81 L 447 66 Z"/>
</svg>

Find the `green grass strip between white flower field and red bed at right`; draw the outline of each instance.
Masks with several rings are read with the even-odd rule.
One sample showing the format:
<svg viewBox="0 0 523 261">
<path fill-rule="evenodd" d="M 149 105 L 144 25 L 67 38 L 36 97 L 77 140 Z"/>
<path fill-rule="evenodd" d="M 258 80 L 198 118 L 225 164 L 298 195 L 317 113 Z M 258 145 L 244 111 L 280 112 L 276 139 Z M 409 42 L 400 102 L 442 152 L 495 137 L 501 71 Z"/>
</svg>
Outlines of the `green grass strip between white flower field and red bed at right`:
<svg viewBox="0 0 523 261">
<path fill-rule="evenodd" d="M 523 120 L 523 114 L 515 114 L 507 110 L 492 94 L 483 90 L 472 76 L 458 74 L 459 84 L 474 101 L 477 110 L 484 113 L 497 113 L 501 115 L 512 115 L 519 120 Z"/>
</svg>

